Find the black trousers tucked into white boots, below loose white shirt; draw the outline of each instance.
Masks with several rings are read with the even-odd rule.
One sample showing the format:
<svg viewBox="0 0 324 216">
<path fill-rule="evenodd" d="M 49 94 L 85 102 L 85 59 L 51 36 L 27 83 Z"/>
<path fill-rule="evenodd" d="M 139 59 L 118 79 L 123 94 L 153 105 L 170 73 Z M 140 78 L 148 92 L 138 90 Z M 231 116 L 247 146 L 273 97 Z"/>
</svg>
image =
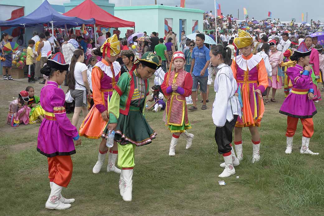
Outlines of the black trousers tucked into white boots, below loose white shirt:
<svg viewBox="0 0 324 216">
<path fill-rule="evenodd" d="M 237 115 L 234 115 L 234 119 L 231 122 L 226 120 L 223 127 L 216 127 L 215 130 L 215 141 L 218 147 L 218 153 L 225 154 L 232 150 L 229 144 L 232 143 L 233 136 L 232 132 L 235 127 Z"/>
</svg>

